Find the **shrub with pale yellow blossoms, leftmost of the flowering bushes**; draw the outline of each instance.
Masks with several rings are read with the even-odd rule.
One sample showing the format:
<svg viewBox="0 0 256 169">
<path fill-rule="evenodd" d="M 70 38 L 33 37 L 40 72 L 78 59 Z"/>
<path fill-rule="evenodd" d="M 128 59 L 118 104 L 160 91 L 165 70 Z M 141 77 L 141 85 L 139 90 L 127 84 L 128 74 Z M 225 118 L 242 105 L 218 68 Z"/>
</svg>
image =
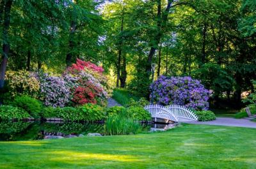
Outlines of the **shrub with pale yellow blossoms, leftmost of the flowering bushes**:
<svg viewBox="0 0 256 169">
<path fill-rule="evenodd" d="M 40 82 L 29 71 L 6 71 L 6 80 L 13 97 L 18 95 L 38 97 Z"/>
</svg>

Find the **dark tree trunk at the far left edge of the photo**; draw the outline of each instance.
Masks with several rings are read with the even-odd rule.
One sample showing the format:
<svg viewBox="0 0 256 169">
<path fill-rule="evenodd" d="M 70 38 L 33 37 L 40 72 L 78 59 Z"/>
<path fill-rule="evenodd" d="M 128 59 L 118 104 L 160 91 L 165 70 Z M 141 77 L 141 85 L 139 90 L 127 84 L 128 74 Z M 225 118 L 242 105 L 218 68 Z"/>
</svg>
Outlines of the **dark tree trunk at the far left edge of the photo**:
<svg viewBox="0 0 256 169">
<path fill-rule="evenodd" d="M 10 44 L 8 41 L 8 29 L 10 27 L 10 13 L 12 8 L 12 0 L 6 0 L 4 5 L 4 25 L 3 25 L 3 55 L 0 66 L 0 89 L 4 87 L 4 77 L 10 51 Z"/>
</svg>

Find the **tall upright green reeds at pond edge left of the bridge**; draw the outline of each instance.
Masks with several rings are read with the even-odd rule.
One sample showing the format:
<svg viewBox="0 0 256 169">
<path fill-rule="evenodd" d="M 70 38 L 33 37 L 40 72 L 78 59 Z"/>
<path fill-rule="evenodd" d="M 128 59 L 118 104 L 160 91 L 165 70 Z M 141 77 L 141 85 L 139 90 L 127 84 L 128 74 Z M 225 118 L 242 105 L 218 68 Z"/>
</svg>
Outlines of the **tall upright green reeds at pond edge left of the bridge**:
<svg viewBox="0 0 256 169">
<path fill-rule="evenodd" d="M 106 135 L 135 135 L 141 131 L 140 123 L 123 113 L 108 117 L 104 127 Z"/>
</svg>

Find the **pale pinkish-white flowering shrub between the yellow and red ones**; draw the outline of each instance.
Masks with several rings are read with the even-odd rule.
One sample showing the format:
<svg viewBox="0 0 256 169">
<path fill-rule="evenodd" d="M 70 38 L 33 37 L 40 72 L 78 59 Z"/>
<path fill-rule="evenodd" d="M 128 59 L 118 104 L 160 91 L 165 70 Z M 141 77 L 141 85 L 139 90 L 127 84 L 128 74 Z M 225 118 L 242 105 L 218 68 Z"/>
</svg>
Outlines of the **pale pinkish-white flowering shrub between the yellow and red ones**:
<svg viewBox="0 0 256 169">
<path fill-rule="evenodd" d="M 70 100 L 70 89 L 61 77 L 44 74 L 41 77 L 40 89 L 46 106 L 64 107 Z"/>
</svg>

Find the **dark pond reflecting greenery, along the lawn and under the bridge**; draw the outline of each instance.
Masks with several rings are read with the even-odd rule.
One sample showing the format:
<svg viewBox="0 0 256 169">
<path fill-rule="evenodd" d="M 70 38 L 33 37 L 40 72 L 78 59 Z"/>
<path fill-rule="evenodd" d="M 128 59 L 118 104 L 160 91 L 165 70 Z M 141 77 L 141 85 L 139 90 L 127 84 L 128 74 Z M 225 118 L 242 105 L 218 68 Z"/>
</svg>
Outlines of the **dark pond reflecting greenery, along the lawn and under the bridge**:
<svg viewBox="0 0 256 169">
<path fill-rule="evenodd" d="M 163 131 L 167 124 L 141 124 L 143 132 Z M 88 133 L 104 135 L 104 124 L 81 122 L 0 122 L 0 141 L 42 140 L 45 138 L 83 136 Z"/>
</svg>

